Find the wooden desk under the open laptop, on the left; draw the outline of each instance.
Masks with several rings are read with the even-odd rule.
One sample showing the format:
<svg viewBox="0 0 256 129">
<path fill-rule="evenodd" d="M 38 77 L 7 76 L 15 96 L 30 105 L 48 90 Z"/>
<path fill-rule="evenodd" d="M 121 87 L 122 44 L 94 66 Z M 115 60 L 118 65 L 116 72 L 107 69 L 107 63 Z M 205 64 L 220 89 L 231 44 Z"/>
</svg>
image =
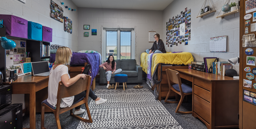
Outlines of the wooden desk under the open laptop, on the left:
<svg viewBox="0 0 256 129">
<path fill-rule="evenodd" d="M 19 76 L 12 82 L 12 94 L 29 94 L 29 103 L 25 104 L 29 111 L 29 127 L 36 129 L 36 92 L 48 87 L 49 76 L 32 76 L 31 74 Z M 9 83 L 6 83 L 9 84 Z"/>
</svg>

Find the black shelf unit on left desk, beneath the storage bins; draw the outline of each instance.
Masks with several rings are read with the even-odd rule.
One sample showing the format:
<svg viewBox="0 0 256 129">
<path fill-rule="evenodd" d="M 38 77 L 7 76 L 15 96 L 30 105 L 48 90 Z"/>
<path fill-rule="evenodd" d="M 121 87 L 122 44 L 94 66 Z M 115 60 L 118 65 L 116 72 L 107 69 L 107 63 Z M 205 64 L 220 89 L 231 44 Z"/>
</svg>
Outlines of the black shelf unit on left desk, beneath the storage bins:
<svg viewBox="0 0 256 129">
<path fill-rule="evenodd" d="M 6 27 L 3 25 L 3 28 L 0 28 L 0 36 L 7 37 L 10 40 L 23 40 L 26 41 L 26 51 L 29 52 L 29 57 L 31 58 L 31 62 L 40 62 L 41 58 L 49 58 L 50 56 L 41 57 L 41 43 L 44 45 L 50 45 L 51 42 L 39 41 L 39 40 L 32 40 L 32 39 L 25 39 L 20 37 L 13 37 L 6 35 Z M 6 51 L 0 45 L 0 70 L 3 73 L 3 78 L 6 78 Z M 6 79 L 3 79 L 3 82 L 6 82 Z"/>
</svg>

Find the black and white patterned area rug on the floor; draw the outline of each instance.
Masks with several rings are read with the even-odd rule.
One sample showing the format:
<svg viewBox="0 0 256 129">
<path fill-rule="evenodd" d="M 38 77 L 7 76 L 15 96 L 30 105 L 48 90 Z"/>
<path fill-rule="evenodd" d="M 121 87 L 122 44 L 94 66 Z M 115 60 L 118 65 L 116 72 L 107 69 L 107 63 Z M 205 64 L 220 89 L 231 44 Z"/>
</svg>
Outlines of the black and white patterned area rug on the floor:
<svg viewBox="0 0 256 129">
<path fill-rule="evenodd" d="M 183 129 L 149 89 L 98 89 L 106 103 L 89 103 L 92 123 L 80 121 L 77 129 Z M 88 119 L 85 112 L 83 118 Z"/>
</svg>

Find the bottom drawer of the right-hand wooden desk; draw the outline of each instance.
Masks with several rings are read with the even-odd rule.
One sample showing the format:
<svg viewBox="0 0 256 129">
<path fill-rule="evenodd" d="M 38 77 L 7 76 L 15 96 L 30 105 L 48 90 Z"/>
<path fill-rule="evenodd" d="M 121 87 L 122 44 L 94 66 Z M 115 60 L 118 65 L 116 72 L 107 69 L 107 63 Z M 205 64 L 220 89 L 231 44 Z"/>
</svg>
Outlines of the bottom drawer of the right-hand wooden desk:
<svg viewBox="0 0 256 129">
<path fill-rule="evenodd" d="M 194 112 L 210 123 L 210 103 L 194 95 Z"/>
</svg>

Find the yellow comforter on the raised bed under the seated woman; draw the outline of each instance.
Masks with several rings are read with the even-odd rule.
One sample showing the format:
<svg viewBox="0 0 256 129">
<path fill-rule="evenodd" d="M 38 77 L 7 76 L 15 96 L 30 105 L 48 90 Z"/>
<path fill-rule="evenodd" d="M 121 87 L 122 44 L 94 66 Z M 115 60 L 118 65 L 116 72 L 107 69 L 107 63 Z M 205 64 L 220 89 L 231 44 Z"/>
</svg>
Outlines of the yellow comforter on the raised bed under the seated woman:
<svg viewBox="0 0 256 129">
<path fill-rule="evenodd" d="M 146 52 L 141 53 L 140 55 L 140 66 L 142 67 L 142 70 L 147 74 L 147 60 L 148 55 Z M 151 75 L 154 73 L 154 69 L 156 68 L 156 65 L 158 63 L 164 63 L 164 64 L 177 64 L 177 65 L 188 65 L 191 63 L 191 61 L 194 61 L 194 58 L 191 53 L 189 52 L 181 52 L 181 53 L 155 53 L 152 56 L 152 65 L 151 67 Z"/>
</svg>

